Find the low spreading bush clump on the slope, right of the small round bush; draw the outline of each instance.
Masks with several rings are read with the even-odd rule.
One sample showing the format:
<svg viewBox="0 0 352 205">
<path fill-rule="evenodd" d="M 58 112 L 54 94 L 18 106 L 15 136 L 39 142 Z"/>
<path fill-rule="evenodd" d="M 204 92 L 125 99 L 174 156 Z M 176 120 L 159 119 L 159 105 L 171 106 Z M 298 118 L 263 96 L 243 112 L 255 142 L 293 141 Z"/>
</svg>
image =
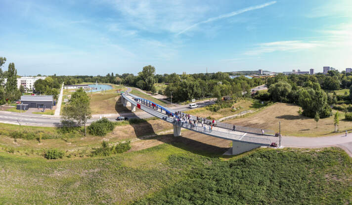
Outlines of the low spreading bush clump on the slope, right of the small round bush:
<svg viewBox="0 0 352 205">
<path fill-rule="evenodd" d="M 92 156 L 110 156 L 118 153 L 124 153 L 131 149 L 130 141 L 119 143 L 116 146 L 109 147 L 109 142 L 103 141 L 101 147 L 92 152 Z"/>
</svg>

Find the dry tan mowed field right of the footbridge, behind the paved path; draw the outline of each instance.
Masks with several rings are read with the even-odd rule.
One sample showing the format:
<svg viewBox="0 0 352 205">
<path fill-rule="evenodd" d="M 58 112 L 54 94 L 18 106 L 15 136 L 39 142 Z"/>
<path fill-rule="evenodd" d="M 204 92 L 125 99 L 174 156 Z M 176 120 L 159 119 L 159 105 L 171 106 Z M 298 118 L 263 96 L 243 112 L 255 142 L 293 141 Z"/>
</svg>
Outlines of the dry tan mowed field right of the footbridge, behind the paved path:
<svg viewBox="0 0 352 205">
<path fill-rule="evenodd" d="M 258 113 L 249 114 L 243 118 L 231 119 L 225 123 L 234 123 L 241 126 L 251 126 L 257 128 L 271 129 L 279 131 L 281 122 L 281 134 L 289 136 L 319 137 L 337 134 L 334 132 L 334 116 L 320 119 L 318 127 L 312 118 L 299 116 L 297 111 L 299 106 L 286 103 L 275 103 Z M 336 111 L 333 111 L 335 113 Z M 345 121 L 345 115 L 340 113 L 340 131 L 352 131 L 352 122 Z"/>
</svg>

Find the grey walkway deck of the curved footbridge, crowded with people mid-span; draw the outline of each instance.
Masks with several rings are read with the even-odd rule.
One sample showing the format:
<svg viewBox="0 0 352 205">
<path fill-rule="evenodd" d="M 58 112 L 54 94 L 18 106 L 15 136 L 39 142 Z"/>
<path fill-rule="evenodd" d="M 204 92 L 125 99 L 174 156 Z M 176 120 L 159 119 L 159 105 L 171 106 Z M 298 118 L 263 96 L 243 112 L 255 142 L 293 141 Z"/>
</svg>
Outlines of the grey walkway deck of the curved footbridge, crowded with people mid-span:
<svg viewBox="0 0 352 205">
<path fill-rule="evenodd" d="M 218 138 L 222 138 L 222 139 L 227 139 L 227 140 L 232 140 L 232 141 L 240 141 L 240 142 L 247 142 L 247 143 L 254 143 L 254 144 L 259 144 L 259 145 L 270 145 L 271 144 L 271 140 L 270 137 L 268 136 L 263 136 L 263 135 L 259 135 L 259 134 L 250 134 L 250 133 L 246 133 L 246 132 L 239 132 L 239 131 L 231 131 L 228 129 L 224 129 L 224 128 L 220 128 L 220 127 L 214 127 L 213 130 L 209 130 L 209 126 L 206 126 L 206 129 L 204 130 L 203 127 L 201 126 L 193 126 L 190 123 L 182 123 L 182 122 L 177 122 L 176 119 L 169 117 L 166 113 L 175 113 L 175 111 L 170 110 L 168 108 L 159 106 L 159 109 L 161 108 L 162 110 L 164 110 L 164 112 L 166 111 L 166 113 L 162 113 L 160 112 L 160 110 L 156 110 L 152 107 L 149 107 L 147 105 L 143 105 L 143 103 L 139 103 L 137 102 L 138 99 L 139 100 L 144 100 L 144 102 L 147 102 L 149 105 L 149 100 L 145 100 L 143 98 L 140 98 L 136 95 L 132 95 L 132 94 L 123 94 L 122 95 L 124 97 L 124 99 L 128 100 L 132 105 L 140 108 L 141 110 L 149 113 L 152 116 L 155 116 L 157 118 L 160 118 L 168 123 L 172 123 L 172 124 L 176 124 L 177 126 L 195 131 L 195 132 L 199 132 L 199 133 L 203 133 L 209 136 L 213 136 L 213 137 L 218 137 Z M 139 105 L 139 106 L 138 106 Z"/>
</svg>

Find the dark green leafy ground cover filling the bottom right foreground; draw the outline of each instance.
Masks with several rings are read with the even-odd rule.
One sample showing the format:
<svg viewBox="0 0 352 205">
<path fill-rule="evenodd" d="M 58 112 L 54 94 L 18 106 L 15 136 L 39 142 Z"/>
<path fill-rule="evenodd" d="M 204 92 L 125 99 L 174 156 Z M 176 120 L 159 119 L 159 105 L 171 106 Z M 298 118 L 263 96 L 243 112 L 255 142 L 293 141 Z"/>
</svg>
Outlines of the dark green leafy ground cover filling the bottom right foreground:
<svg viewBox="0 0 352 205">
<path fill-rule="evenodd" d="M 259 150 L 228 162 L 173 155 L 169 162 L 194 169 L 184 180 L 135 204 L 352 203 L 352 161 L 340 149 Z"/>
</svg>

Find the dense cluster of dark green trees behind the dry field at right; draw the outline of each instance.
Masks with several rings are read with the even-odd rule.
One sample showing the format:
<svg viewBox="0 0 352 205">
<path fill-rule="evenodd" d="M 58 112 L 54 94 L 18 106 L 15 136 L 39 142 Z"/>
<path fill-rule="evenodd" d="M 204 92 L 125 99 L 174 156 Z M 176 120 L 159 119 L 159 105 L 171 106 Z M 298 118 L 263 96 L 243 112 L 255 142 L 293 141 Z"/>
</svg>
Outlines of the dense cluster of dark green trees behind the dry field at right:
<svg viewBox="0 0 352 205">
<path fill-rule="evenodd" d="M 295 103 L 303 108 L 303 115 L 308 117 L 326 118 L 332 115 L 328 103 L 336 103 L 336 93 L 327 90 L 347 88 L 352 84 L 350 74 L 329 71 L 328 75 L 277 75 L 267 79 L 268 92 L 259 92 L 257 97 L 262 100 Z M 324 91 L 326 90 L 326 91 Z"/>
</svg>

